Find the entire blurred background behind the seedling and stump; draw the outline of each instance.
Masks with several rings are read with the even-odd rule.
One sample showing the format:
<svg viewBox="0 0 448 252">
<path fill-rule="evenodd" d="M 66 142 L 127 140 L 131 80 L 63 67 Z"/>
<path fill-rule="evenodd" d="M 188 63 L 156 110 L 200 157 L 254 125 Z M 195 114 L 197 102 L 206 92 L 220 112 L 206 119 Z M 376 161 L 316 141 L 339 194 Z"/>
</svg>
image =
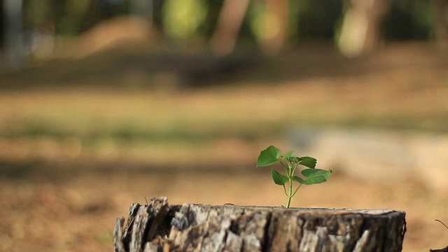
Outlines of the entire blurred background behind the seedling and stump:
<svg viewBox="0 0 448 252">
<path fill-rule="evenodd" d="M 333 170 L 293 207 L 447 245 L 448 1 L 0 3 L 0 251 L 111 251 L 145 197 L 286 204 L 269 145 Z"/>
</svg>

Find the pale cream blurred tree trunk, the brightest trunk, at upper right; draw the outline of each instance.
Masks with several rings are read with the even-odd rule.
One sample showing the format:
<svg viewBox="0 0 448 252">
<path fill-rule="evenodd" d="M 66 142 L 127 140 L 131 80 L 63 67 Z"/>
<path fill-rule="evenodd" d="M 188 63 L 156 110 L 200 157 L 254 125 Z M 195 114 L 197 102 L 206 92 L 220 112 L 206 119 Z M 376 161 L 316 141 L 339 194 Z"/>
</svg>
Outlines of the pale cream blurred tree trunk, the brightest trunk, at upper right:
<svg viewBox="0 0 448 252">
<path fill-rule="evenodd" d="M 357 57 L 380 44 L 381 20 L 387 0 L 350 0 L 342 21 L 337 45 L 346 57 Z"/>
</svg>

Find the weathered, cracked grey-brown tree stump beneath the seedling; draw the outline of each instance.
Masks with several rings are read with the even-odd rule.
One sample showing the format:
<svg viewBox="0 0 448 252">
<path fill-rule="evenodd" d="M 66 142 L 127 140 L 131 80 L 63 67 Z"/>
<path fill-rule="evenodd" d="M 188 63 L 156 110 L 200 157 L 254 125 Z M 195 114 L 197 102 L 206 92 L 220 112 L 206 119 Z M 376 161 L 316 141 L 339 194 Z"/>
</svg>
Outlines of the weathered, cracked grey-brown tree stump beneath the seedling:
<svg viewBox="0 0 448 252">
<path fill-rule="evenodd" d="M 401 251 L 405 212 L 132 204 L 114 230 L 116 252 Z"/>
</svg>

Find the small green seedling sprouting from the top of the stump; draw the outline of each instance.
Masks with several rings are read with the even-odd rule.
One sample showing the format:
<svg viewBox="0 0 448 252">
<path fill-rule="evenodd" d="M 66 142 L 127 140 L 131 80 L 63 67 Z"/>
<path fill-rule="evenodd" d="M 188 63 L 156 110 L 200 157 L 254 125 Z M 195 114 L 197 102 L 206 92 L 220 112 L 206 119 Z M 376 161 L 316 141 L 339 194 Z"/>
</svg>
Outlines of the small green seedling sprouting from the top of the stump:
<svg viewBox="0 0 448 252">
<path fill-rule="evenodd" d="M 316 169 L 317 160 L 315 158 L 293 157 L 293 151 L 289 151 L 285 155 L 281 155 L 281 151 L 275 146 L 269 146 L 264 151 L 261 151 L 258 156 L 257 167 L 267 167 L 278 162 L 285 170 L 286 176 L 272 168 L 272 180 L 274 180 L 276 185 L 283 186 L 285 194 L 288 197 L 286 208 L 289 208 L 291 199 L 294 197 L 295 193 L 297 193 L 300 186 L 325 182 L 330 177 L 332 172 L 331 169 L 328 169 L 328 171 L 324 169 Z M 302 169 L 302 172 L 300 172 L 303 177 L 294 175 L 295 170 L 299 165 L 306 167 L 305 169 Z M 299 186 L 297 186 L 295 190 L 293 190 L 293 181 L 299 183 Z M 286 189 L 285 186 L 286 182 L 288 182 L 288 189 Z"/>
</svg>

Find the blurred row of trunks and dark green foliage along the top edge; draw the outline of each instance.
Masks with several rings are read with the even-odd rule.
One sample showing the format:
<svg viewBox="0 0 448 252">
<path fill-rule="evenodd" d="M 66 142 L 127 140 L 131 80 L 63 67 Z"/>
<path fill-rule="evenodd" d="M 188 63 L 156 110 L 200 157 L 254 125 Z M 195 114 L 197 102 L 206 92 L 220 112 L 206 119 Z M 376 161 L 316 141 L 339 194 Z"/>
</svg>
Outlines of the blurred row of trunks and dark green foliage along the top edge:
<svg viewBox="0 0 448 252">
<path fill-rule="evenodd" d="M 378 41 L 447 41 L 447 2 L 0 0 L 0 38 L 1 46 L 11 50 L 20 34 L 29 40 L 39 33 L 77 36 L 104 20 L 139 15 L 173 41 L 211 41 L 211 47 L 221 54 L 232 51 L 237 40 L 268 51 L 318 40 L 334 42 L 342 52 L 347 50 L 346 55 L 356 56 Z M 31 33 L 23 35 L 27 31 Z"/>
</svg>

